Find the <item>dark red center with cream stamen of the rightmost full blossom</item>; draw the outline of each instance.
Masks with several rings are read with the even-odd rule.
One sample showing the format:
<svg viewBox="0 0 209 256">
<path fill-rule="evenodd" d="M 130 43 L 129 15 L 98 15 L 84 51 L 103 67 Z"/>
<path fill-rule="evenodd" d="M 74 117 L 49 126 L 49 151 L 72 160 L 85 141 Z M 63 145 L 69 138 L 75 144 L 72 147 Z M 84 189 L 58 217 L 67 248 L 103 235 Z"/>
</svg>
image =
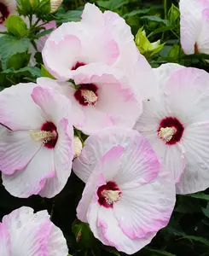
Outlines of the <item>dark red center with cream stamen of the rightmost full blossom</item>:
<svg viewBox="0 0 209 256">
<path fill-rule="evenodd" d="M 173 145 L 181 140 L 183 131 L 183 124 L 177 118 L 166 117 L 160 121 L 158 135 L 165 144 Z"/>
</svg>

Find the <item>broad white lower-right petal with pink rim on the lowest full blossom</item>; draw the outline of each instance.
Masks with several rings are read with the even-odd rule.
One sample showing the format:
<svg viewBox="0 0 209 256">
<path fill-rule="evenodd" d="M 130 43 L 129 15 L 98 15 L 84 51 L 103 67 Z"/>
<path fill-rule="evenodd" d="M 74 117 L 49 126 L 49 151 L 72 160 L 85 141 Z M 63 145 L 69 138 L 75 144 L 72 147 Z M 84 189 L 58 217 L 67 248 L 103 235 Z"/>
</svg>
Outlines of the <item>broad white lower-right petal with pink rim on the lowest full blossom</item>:
<svg viewBox="0 0 209 256">
<path fill-rule="evenodd" d="M 120 200 L 113 205 L 113 212 L 126 236 L 146 237 L 168 224 L 176 202 L 170 170 L 161 167 L 152 182 L 134 188 L 119 186 L 119 189 Z"/>
</svg>

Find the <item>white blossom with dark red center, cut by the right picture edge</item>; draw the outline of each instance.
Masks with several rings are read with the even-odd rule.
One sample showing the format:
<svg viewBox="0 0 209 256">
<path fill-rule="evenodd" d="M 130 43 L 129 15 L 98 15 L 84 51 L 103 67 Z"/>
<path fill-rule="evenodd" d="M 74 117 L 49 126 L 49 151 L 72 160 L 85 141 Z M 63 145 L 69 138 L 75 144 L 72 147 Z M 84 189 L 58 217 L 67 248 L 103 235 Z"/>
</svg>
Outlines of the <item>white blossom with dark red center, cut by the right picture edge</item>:
<svg viewBox="0 0 209 256">
<path fill-rule="evenodd" d="M 160 91 L 143 102 L 135 129 L 172 173 L 178 194 L 204 190 L 209 187 L 209 74 L 171 64 L 155 73 Z"/>
</svg>

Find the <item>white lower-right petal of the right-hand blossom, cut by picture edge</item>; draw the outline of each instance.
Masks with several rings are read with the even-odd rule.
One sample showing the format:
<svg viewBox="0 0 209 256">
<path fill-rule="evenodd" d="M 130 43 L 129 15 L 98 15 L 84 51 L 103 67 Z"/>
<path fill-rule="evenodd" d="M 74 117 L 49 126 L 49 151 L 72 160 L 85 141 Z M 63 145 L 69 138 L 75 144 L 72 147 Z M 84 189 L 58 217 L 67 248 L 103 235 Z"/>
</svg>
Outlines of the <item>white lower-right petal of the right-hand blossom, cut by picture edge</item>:
<svg viewBox="0 0 209 256">
<path fill-rule="evenodd" d="M 209 123 L 189 125 L 181 144 L 184 148 L 186 167 L 177 194 L 191 194 L 209 187 Z"/>
</svg>

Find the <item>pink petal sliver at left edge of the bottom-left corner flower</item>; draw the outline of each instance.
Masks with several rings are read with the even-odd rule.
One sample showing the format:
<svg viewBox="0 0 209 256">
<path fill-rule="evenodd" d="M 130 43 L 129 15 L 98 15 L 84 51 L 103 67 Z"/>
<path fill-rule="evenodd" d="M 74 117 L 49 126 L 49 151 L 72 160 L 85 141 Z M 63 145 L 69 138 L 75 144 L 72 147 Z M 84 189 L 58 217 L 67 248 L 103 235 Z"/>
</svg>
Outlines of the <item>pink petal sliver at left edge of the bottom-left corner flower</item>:
<svg viewBox="0 0 209 256">
<path fill-rule="evenodd" d="M 12 256 L 9 230 L 2 223 L 0 223 L 0 252 L 3 256 Z"/>
</svg>

